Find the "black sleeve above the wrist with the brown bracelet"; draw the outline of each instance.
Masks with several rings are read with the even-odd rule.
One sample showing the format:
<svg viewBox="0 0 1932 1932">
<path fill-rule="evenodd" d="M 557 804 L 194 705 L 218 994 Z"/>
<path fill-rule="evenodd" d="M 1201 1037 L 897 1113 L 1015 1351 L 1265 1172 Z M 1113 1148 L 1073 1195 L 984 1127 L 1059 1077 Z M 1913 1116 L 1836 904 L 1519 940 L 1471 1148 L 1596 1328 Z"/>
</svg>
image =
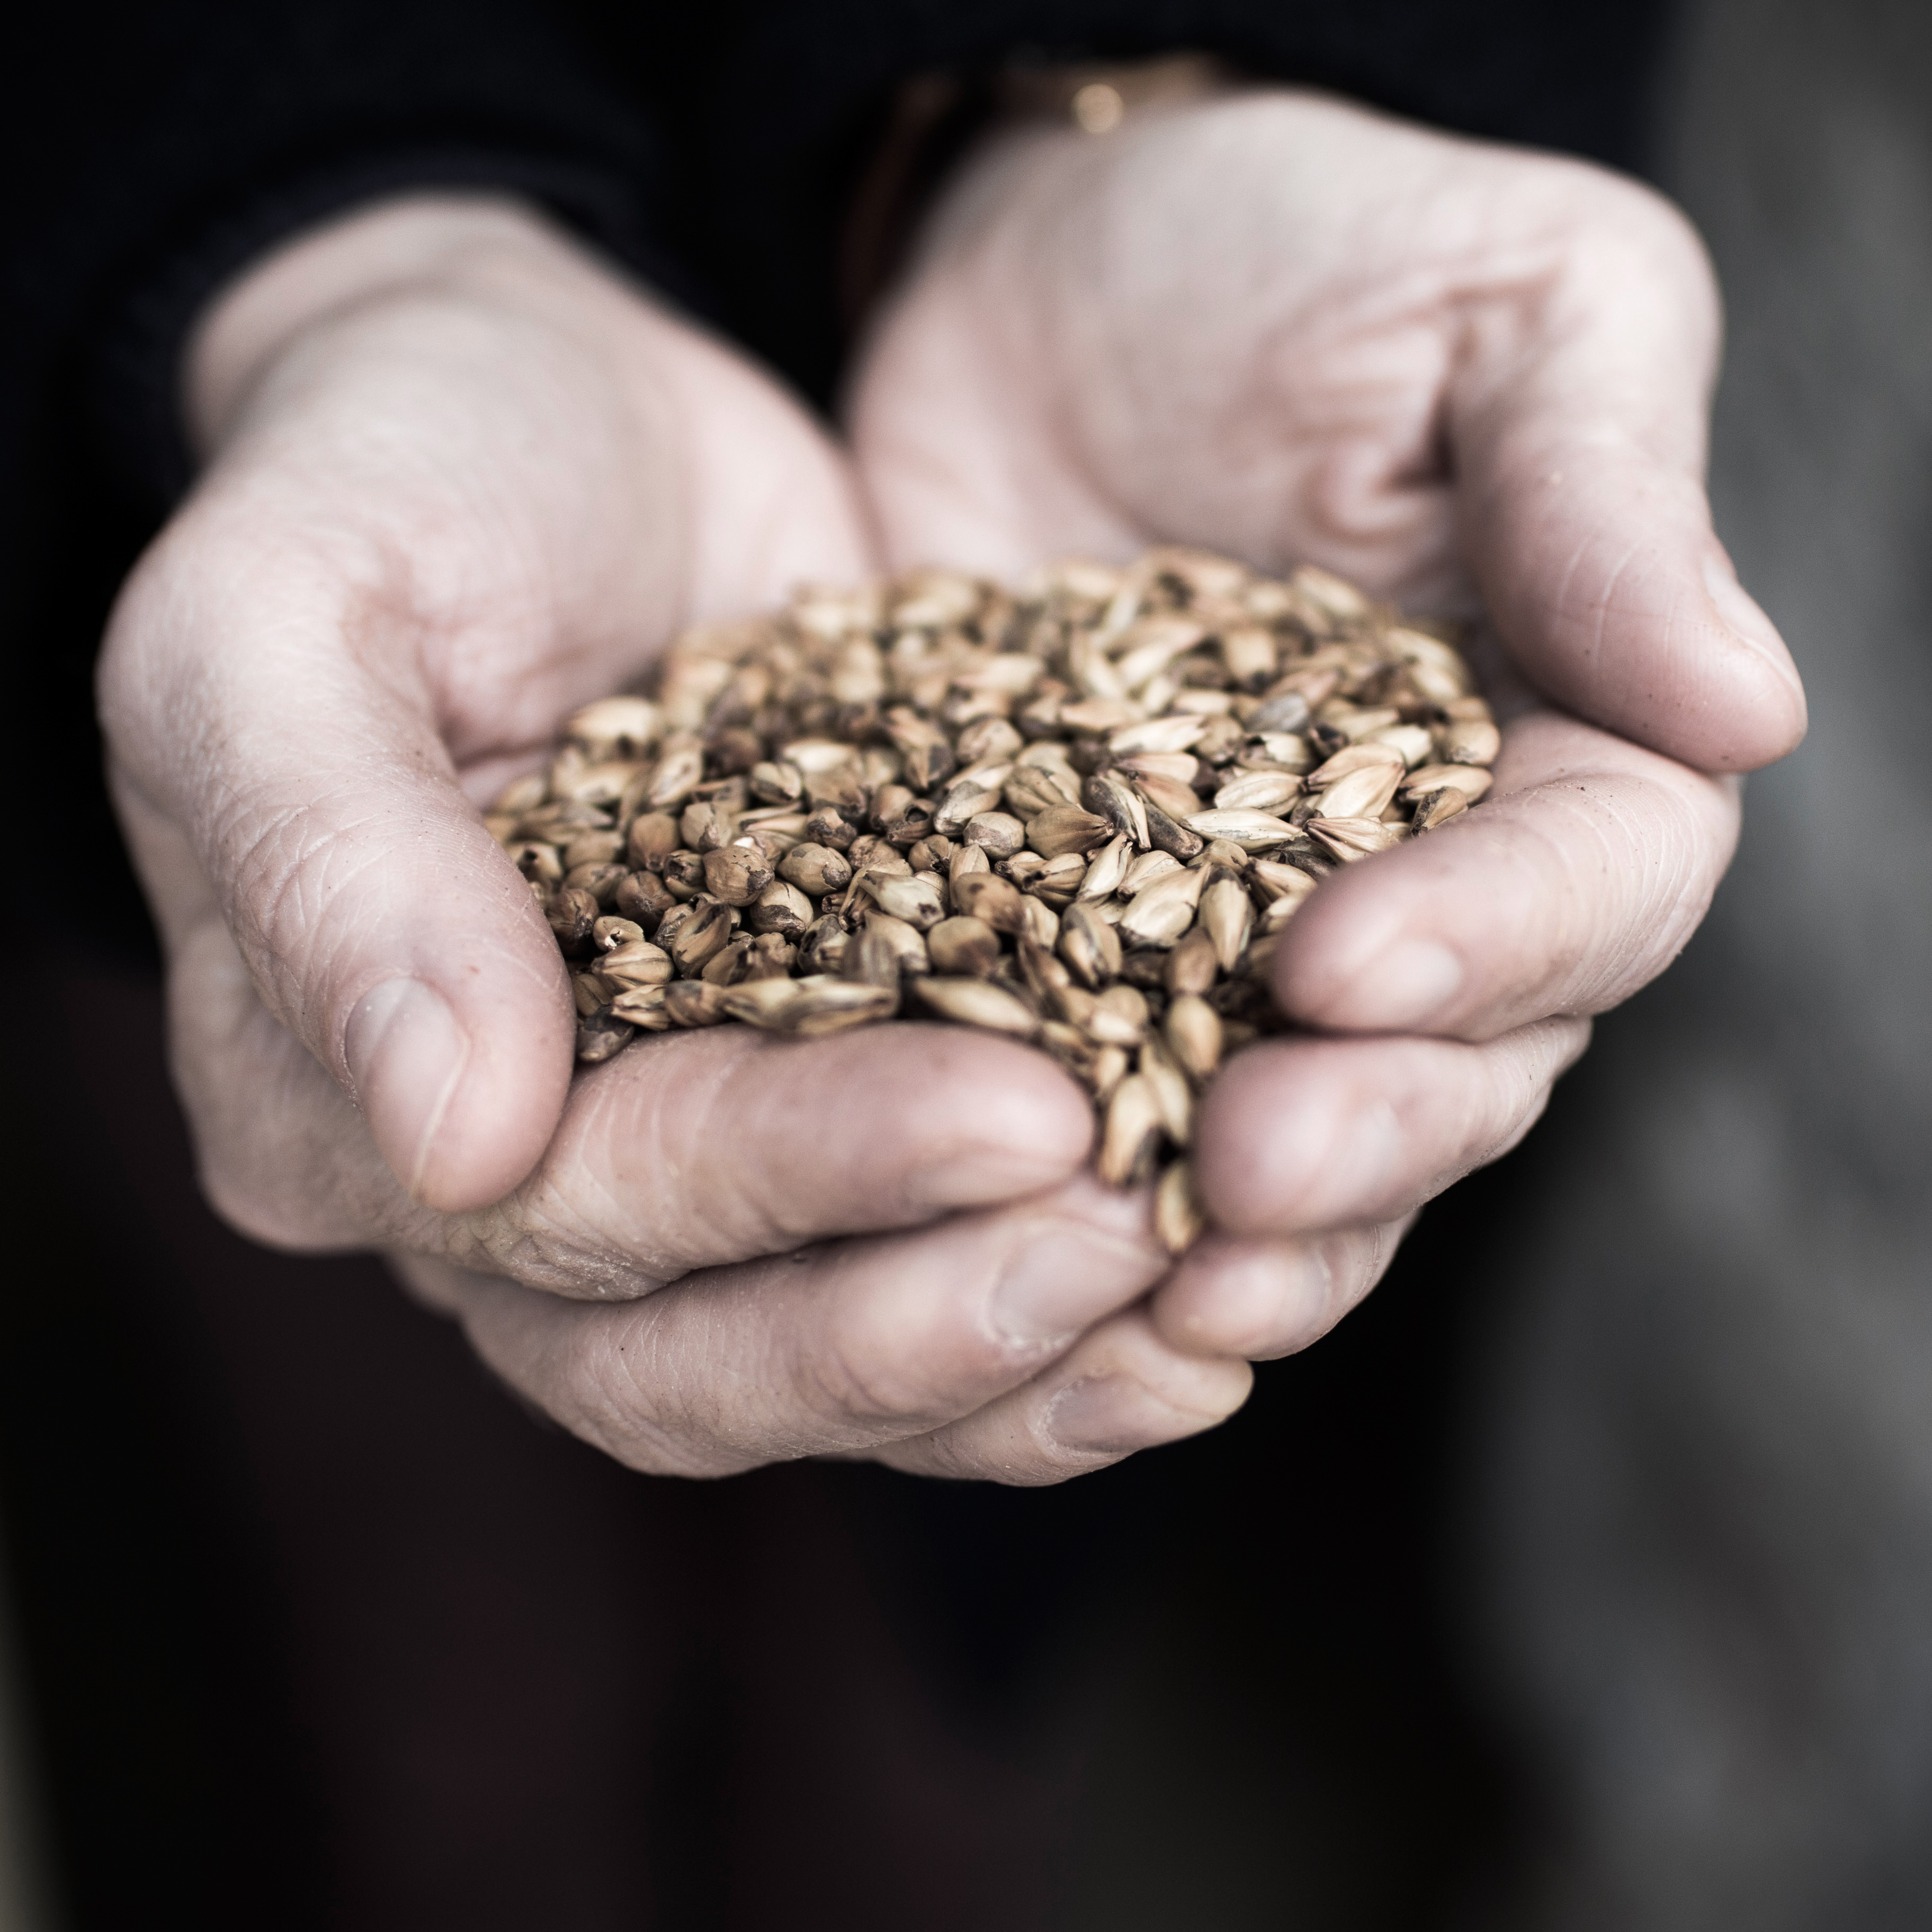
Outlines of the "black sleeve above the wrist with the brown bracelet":
<svg viewBox="0 0 1932 1932">
<path fill-rule="evenodd" d="M 895 89 L 1014 58 L 1198 50 L 1497 141 L 1642 162 L 1671 0 L 740 0 L 661 116 L 665 234 L 730 330 L 810 396 L 848 346 L 840 224 Z"/>
</svg>

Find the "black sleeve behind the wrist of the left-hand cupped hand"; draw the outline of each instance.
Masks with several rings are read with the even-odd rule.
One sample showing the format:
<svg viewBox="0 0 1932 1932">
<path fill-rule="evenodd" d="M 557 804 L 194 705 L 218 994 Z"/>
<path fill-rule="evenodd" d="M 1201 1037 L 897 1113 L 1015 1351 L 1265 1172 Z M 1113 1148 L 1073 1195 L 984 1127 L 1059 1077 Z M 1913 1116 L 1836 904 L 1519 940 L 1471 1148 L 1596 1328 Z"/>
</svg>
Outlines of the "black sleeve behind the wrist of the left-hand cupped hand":
<svg viewBox="0 0 1932 1932">
<path fill-rule="evenodd" d="M 0 99 L 8 172 L 27 187 L 6 238 L 4 381 L 29 415 L 35 396 L 68 412 L 68 433 L 91 419 L 155 500 L 187 475 L 176 369 L 195 311 L 284 234 L 371 195 L 504 187 L 692 294 L 651 242 L 649 120 L 558 8 L 46 10 Z"/>
</svg>

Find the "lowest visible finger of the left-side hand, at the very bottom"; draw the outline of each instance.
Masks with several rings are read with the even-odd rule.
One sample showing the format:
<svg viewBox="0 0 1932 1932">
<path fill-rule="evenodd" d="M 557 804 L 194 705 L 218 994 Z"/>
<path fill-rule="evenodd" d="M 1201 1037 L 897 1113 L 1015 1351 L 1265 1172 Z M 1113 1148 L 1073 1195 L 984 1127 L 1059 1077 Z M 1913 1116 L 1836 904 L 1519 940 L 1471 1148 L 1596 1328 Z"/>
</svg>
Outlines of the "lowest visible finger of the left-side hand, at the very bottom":
<svg viewBox="0 0 1932 1932">
<path fill-rule="evenodd" d="M 875 1461 L 920 1476 L 1065 1482 L 1215 1428 L 1252 1387 L 1246 1362 L 1182 1352 L 1130 1308 L 1024 1387 Z"/>
</svg>

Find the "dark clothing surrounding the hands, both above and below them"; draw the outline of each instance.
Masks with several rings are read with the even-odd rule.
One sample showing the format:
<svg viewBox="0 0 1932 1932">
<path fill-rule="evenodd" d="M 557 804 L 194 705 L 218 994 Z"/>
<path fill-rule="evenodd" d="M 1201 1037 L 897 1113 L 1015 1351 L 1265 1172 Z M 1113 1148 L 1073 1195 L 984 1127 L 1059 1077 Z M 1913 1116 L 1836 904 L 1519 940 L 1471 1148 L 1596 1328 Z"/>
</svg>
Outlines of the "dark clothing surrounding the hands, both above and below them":
<svg viewBox="0 0 1932 1932">
<path fill-rule="evenodd" d="M 1631 164 L 1662 14 L 50 12 L 0 73 L 21 796 L 60 800 L 68 846 L 112 838 L 73 777 L 87 665 L 187 479 L 184 332 L 305 222 L 412 185 L 514 189 L 825 402 L 840 228 L 912 75 L 1200 48 Z M 1461 1306 L 1445 1254 L 1480 1248 L 1507 1171 L 1206 1443 L 1051 1493 L 819 1464 L 651 1482 L 524 1418 L 373 1264 L 213 1223 L 153 985 L 108 956 L 139 952 L 131 889 L 95 881 L 68 912 L 43 852 L 12 900 L 31 1037 L 8 1121 L 37 1130 L 8 1175 L 15 1225 L 62 1246 L 6 1291 L 0 1414 L 75 1926 L 180 1899 L 203 1926 L 357 1932 L 1219 1932 L 1279 1922 L 1269 1868 L 1308 1922 L 1406 1926 L 1499 1847 L 1507 1791 L 1441 1662 L 1428 1445 Z"/>
</svg>

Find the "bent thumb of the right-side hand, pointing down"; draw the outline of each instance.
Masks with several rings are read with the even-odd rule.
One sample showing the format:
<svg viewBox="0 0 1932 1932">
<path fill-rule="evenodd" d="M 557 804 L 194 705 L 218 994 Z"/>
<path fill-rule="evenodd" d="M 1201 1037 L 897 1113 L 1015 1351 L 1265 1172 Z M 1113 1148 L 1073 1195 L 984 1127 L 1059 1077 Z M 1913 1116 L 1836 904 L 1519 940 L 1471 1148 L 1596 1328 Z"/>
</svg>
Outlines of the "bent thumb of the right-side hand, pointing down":
<svg viewBox="0 0 1932 1932">
<path fill-rule="evenodd" d="M 1702 245 L 1656 195 L 1580 166 L 1497 172 L 1509 197 L 1553 267 L 1470 303 L 1445 408 L 1497 630 L 1584 717 L 1700 771 L 1768 765 L 1804 736 L 1804 690 L 1710 526 Z"/>
</svg>

